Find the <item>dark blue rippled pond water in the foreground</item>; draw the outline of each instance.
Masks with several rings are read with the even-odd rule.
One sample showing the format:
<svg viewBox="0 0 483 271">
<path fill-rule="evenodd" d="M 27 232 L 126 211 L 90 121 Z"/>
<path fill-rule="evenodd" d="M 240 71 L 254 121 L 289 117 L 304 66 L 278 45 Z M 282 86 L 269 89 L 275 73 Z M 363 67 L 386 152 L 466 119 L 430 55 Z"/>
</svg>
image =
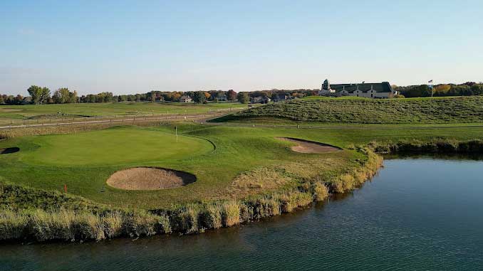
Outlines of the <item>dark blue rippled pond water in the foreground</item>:
<svg viewBox="0 0 483 271">
<path fill-rule="evenodd" d="M 362 188 L 200 235 L 0 245 L 0 270 L 477 270 L 483 161 L 392 159 Z"/>
</svg>

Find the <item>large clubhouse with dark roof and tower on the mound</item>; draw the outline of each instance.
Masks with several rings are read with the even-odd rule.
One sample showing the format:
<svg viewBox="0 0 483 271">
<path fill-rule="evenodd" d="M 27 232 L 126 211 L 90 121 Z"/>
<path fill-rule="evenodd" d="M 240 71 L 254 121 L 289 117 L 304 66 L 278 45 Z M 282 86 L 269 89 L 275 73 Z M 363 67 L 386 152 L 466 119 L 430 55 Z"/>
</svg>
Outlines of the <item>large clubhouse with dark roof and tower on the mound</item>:
<svg viewBox="0 0 483 271">
<path fill-rule="evenodd" d="M 355 83 L 355 84 L 332 84 L 328 80 L 324 80 L 321 90 L 318 92 L 320 96 L 355 96 L 366 98 L 392 98 L 398 95 L 388 82 L 383 83 Z"/>
</svg>

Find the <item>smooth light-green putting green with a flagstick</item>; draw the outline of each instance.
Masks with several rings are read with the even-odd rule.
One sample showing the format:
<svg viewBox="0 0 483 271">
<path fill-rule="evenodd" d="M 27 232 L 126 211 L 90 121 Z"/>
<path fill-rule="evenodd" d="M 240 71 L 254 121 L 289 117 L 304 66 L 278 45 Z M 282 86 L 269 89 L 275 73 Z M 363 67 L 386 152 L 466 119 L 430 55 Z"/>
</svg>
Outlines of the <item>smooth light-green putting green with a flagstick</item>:
<svg viewBox="0 0 483 271">
<path fill-rule="evenodd" d="M 22 153 L 28 164 L 100 166 L 185 159 L 210 152 L 211 143 L 150 129 L 118 128 L 31 137 L 38 146 Z"/>
</svg>

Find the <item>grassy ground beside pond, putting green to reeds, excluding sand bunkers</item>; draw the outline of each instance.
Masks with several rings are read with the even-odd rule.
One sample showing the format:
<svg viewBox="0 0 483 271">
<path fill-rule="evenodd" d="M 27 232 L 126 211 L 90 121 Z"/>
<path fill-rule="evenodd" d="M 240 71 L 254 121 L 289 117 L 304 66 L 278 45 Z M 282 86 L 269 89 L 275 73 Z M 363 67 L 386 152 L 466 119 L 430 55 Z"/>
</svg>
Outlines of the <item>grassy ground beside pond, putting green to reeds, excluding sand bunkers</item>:
<svg viewBox="0 0 483 271">
<path fill-rule="evenodd" d="M 358 146 L 385 152 L 383 146 L 393 146 L 392 142 L 420 142 L 420 146 L 452 142 L 460 152 L 464 146 L 480 146 L 474 142 L 482 138 L 475 135 L 483 134 L 483 127 L 462 125 L 445 129 L 408 129 L 407 125 L 336 129 L 175 125 L 180 139 L 189 139 L 178 147 L 190 148 L 202 140 L 216 148 L 170 156 L 170 148 L 178 148 L 172 141 L 172 124 L 1 141 L 0 148 L 20 148 L 20 152 L 2 154 L 0 159 L 0 183 L 4 184 L 0 189 L 1 238 L 99 240 L 199 233 L 237 225 L 288 213 L 323 200 L 330 193 L 357 187 L 373 176 L 381 163 L 371 149 Z M 290 149 L 294 143 L 277 137 L 323 142 L 343 151 L 296 153 Z M 83 144 L 71 147 L 76 142 Z M 146 142 L 152 144 L 144 145 Z M 400 152 L 400 147 L 391 148 Z M 52 149 L 68 155 L 56 162 L 57 152 L 49 154 Z M 113 155 L 120 151 L 125 155 Z M 74 156 L 76 159 L 71 159 Z M 187 171 L 196 175 L 197 181 L 159 191 L 123 191 L 106 186 L 110 174 L 134 166 Z M 62 192 L 64 184 L 68 193 Z"/>
</svg>

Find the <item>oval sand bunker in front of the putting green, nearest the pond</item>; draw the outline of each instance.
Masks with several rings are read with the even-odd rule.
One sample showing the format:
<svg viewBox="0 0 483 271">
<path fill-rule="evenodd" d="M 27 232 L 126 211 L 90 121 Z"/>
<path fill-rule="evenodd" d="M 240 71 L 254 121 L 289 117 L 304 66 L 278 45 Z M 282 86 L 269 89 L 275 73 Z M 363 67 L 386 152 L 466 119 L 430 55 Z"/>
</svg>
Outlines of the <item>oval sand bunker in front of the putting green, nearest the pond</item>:
<svg viewBox="0 0 483 271">
<path fill-rule="evenodd" d="M 115 172 L 108 185 L 125 190 L 159 190 L 192 184 L 196 176 L 172 169 L 136 167 Z"/>
</svg>

